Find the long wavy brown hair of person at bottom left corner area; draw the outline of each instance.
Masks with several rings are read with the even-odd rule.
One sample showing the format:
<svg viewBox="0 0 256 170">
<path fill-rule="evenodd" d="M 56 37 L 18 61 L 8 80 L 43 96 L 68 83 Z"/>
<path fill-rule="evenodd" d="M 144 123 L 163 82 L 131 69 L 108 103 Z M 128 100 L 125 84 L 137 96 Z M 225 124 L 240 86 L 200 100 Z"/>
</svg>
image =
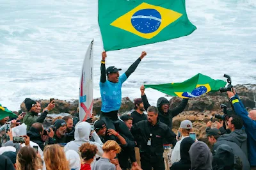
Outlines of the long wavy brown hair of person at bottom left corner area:
<svg viewBox="0 0 256 170">
<path fill-rule="evenodd" d="M 17 155 L 17 170 L 42 169 L 42 160 L 30 146 L 24 146 Z"/>
</svg>

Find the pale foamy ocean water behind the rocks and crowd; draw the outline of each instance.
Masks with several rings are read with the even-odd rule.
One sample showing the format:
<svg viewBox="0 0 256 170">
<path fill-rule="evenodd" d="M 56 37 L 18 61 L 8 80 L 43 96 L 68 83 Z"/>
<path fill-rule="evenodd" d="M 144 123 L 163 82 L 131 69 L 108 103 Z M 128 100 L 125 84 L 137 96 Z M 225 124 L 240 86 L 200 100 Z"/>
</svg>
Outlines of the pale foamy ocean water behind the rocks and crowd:
<svg viewBox="0 0 256 170">
<path fill-rule="evenodd" d="M 256 83 L 256 0 L 188 0 L 189 36 L 108 52 L 123 71 L 147 56 L 122 88 L 140 97 L 141 84 L 181 82 L 196 73 L 233 84 Z M 77 99 L 84 54 L 94 39 L 94 97 L 100 97 L 102 42 L 96 0 L 0 1 L 0 104 L 18 110 L 26 98 Z M 151 104 L 164 94 L 145 93 Z"/>
</svg>

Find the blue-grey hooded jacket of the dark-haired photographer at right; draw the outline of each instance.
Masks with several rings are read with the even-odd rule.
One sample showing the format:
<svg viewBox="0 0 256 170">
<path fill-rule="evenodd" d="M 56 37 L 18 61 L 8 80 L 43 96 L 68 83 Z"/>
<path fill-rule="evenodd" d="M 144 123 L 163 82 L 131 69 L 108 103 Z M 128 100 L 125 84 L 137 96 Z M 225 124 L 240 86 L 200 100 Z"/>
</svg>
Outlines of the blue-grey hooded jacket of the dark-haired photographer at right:
<svg viewBox="0 0 256 170">
<path fill-rule="evenodd" d="M 230 134 L 221 135 L 218 141 L 222 140 L 236 143 L 247 157 L 247 134 L 243 129 L 236 129 Z"/>
</svg>

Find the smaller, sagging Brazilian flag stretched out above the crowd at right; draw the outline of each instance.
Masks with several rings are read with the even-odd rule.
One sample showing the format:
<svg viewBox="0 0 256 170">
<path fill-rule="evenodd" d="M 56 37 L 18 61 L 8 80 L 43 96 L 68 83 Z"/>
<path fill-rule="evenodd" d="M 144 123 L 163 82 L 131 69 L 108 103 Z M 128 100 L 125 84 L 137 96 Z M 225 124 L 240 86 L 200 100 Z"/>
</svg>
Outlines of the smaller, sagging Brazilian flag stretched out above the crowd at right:
<svg viewBox="0 0 256 170">
<path fill-rule="evenodd" d="M 198 73 L 194 77 L 179 83 L 145 85 L 145 88 L 152 88 L 167 95 L 181 98 L 200 97 L 209 91 L 218 91 L 225 87 L 227 82 L 214 80 L 211 77 Z"/>
</svg>

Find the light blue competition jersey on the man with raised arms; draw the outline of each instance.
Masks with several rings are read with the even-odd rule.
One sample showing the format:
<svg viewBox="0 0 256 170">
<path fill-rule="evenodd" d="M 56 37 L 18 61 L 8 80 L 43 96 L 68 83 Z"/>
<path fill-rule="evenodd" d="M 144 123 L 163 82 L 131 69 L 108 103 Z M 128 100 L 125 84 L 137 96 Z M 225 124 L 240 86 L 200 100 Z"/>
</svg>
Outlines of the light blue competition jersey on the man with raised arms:
<svg viewBox="0 0 256 170">
<path fill-rule="evenodd" d="M 125 73 L 120 75 L 118 82 L 100 82 L 100 95 L 102 100 L 101 111 L 117 111 L 121 106 L 122 84 L 127 80 Z"/>
</svg>

